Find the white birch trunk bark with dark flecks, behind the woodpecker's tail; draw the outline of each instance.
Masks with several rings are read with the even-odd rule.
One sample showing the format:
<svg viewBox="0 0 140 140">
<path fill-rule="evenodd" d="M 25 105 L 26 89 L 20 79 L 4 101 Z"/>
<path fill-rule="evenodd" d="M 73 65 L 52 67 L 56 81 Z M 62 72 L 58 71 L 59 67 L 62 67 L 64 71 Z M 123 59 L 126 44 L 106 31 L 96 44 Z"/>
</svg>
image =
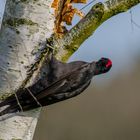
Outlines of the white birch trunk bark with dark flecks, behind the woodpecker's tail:
<svg viewBox="0 0 140 140">
<path fill-rule="evenodd" d="M 50 3 L 51 0 L 7 0 L 0 31 L 1 96 L 23 84 L 28 67 L 35 62 L 36 53 L 52 34 L 54 16 Z M 1 121 L 0 139 L 31 140 L 39 111 L 24 115 Z"/>
</svg>

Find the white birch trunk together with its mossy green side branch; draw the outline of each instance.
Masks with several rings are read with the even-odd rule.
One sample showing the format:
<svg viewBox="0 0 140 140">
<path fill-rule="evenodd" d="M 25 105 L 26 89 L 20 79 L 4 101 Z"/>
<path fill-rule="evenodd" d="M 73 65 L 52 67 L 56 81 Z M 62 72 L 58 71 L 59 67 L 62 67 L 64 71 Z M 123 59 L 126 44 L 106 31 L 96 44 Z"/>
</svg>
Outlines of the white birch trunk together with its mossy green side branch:
<svg viewBox="0 0 140 140">
<path fill-rule="evenodd" d="M 46 57 L 46 38 L 53 34 L 51 0 L 7 0 L 0 31 L 0 98 L 32 85 Z M 107 19 L 125 12 L 140 0 L 97 3 L 63 38 L 55 38 L 56 57 L 66 61 Z M 42 55 L 43 54 L 43 55 Z M 31 71 L 29 71 L 31 69 Z M 0 139 L 31 140 L 40 110 L 0 121 Z"/>
</svg>

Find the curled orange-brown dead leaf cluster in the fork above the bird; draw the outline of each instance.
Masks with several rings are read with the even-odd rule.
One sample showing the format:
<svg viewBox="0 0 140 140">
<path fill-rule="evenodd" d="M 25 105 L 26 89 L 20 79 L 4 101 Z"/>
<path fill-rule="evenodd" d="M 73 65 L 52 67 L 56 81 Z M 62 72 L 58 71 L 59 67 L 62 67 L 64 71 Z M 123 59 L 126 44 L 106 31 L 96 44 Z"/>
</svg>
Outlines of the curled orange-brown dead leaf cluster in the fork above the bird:
<svg viewBox="0 0 140 140">
<path fill-rule="evenodd" d="M 55 9 L 55 32 L 63 33 L 64 26 L 63 23 L 67 25 L 72 24 L 72 19 L 74 14 L 77 14 L 80 17 L 84 17 L 84 14 L 76 8 L 73 8 L 72 3 L 86 3 L 87 0 L 64 0 L 61 4 L 62 6 L 59 8 L 59 4 L 62 2 L 61 0 L 54 0 L 51 7 Z M 66 31 L 64 31 L 66 32 Z"/>
</svg>

